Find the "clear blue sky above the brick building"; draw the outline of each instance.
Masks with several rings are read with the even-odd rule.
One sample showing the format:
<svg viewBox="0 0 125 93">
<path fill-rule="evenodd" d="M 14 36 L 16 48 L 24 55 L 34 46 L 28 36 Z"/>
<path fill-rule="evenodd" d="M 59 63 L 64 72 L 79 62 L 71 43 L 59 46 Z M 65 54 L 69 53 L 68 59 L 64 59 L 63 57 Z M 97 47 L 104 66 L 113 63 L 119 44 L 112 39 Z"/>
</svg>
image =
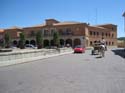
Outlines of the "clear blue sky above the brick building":
<svg viewBox="0 0 125 93">
<path fill-rule="evenodd" d="M 115 24 L 125 37 L 125 0 L 0 0 L 0 29 L 42 24 L 45 19 Z"/>
</svg>

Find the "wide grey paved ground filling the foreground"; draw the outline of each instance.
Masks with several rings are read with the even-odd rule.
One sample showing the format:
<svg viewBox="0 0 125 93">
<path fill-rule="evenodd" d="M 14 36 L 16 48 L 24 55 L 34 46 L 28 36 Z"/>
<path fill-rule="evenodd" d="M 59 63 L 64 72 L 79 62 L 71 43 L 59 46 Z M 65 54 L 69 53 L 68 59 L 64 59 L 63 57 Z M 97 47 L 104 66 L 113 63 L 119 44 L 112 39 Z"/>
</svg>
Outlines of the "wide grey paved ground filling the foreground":
<svg viewBox="0 0 125 93">
<path fill-rule="evenodd" d="M 0 67 L 0 93 L 125 93 L 125 58 L 87 50 Z"/>
</svg>

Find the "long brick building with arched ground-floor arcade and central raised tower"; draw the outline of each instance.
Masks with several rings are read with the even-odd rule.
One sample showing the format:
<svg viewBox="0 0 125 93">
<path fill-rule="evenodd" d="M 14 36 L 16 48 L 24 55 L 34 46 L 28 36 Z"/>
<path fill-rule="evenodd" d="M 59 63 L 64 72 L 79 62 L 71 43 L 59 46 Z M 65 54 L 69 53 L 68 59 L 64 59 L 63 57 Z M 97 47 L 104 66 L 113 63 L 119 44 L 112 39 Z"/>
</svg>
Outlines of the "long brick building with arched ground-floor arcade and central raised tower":
<svg viewBox="0 0 125 93">
<path fill-rule="evenodd" d="M 12 44 L 18 45 L 19 34 L 24 32 L 26 35 L 26 44 L 36 45 L 35 34 L 41 31 L 44 40 L 44 47 L 53 46 L 53 33 L 58 31 L 60 34 L 60 45 L 69 44 L 74 47 L 76 45 L 92 46 L 94 42 L 100 41 L 102 37 L 106 40 L 108 46 L 117 45 L 117 26 L 113 24 L 104 24 L 91 26 L 87 23 L 80 22 L 59 22 L 55 19 L 45 20 L 45 24 L 32 27 L 12 27 L 0 30 L 0 37 L 8 32 L 12 38 Z"/>
</svg>

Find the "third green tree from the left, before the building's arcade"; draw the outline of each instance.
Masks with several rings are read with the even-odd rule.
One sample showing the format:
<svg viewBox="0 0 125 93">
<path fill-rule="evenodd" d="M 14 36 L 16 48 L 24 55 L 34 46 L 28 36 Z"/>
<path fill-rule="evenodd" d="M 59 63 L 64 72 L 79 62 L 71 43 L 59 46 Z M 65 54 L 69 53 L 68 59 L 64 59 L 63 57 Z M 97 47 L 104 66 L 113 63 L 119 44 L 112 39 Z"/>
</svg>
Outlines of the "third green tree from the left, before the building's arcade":
<svg viewBox="0 0 125 93">
<path fill-rule="evenodd" d="M 36 43 L 37 43 L 37 48 L 41 49 L 43 45 L 43 36 L 42 36 L 41 31 L 38 31 L 36 33 Z"/>
</svg>

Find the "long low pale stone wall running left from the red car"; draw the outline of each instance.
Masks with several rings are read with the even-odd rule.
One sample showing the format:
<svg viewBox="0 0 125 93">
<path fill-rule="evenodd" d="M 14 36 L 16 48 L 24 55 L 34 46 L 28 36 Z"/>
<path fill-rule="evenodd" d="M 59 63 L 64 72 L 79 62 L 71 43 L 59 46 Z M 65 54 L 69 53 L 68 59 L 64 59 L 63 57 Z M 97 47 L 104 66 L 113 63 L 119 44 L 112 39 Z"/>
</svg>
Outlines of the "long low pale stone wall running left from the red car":
<svg viewBox="0 0 125 93">
<path fill-rule="evenodd" d="M 52 56 L 62 55 L 72 52 L 71 48 L 57 49 L 36 49 L 26 51 L 15 51 L 0 53 L 0 66 L 24 63 L 34 61 L 42 58 L 48 58 Z"/>
</svg>

